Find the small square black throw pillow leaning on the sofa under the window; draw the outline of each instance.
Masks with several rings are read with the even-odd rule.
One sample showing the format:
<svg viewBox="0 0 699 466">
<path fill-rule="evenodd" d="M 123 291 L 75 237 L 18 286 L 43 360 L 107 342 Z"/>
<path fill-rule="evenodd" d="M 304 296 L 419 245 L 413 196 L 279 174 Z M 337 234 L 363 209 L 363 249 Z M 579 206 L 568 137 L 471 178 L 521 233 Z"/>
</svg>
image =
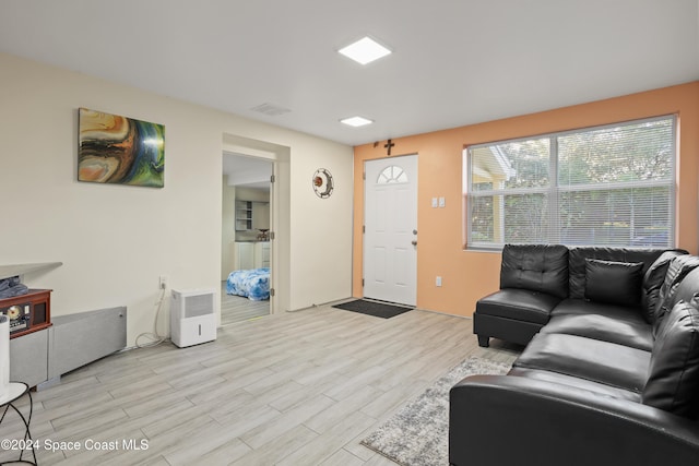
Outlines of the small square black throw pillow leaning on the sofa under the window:
<svg viewBox="0 0 699 466">
<path fill-rule="evenodd" d="M 585 260 L 585 299 L 591 301 L 637 307 L 642 280 L 642 262 Z"/>
</svg>

